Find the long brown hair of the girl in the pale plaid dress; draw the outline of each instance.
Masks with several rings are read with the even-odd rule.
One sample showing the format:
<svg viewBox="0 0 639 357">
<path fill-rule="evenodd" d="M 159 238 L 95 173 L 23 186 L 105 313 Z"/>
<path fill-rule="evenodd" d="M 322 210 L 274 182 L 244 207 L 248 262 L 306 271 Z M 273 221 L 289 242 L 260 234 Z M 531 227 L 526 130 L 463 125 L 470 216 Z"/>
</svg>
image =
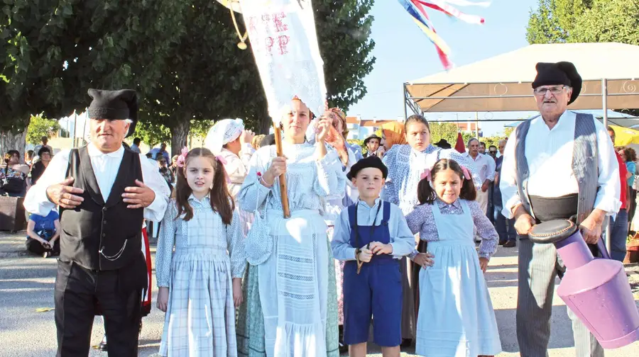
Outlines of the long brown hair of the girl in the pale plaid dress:
<svg viewBox="0 0 639 357">
<path fill-rule="evenodd" d="M 192 149 L 184 160 L 184 167 L 178 168 L 178 183 L 175 187 L 174 196 L 175 204 L 178 206 L 178 219 L 182 213 L 185 213 L 184 220 L 190 220 L 193 217 L 193 208 L 189 204 L 189 197 L 193 190 L 187 182 L 184 171 L 189 166 L 190 159 L 194 157 L 206 157 L 211 161 L 213 165 L 213 188 L 209 190 L 209 198 L 211 201 L 211 208 L 214 212 L 217 212 L 222 217 L 222 222 L 225 225 L 230 225 L 233 219 L 233 210 L 235 205 L 229 188 L 226 187 L 226 173 L 224 172 L 224 165 L 215 157 L 215 155 L 209 149 L 204 147 L 197 147 Z"/>
</svg>

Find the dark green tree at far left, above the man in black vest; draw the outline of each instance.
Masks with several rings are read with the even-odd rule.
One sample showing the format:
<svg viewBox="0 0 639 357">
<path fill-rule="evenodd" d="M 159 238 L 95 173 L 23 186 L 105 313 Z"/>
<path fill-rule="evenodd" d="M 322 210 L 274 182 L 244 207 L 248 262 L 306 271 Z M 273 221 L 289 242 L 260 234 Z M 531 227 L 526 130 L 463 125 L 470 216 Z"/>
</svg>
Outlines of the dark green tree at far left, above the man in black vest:
<svg viewBox="0 0 639 357">
<path fill-rule="evenodd" d="M 185 27 L 185 7 L 176 0 L 0 3 L 0 146 L 23 151 L 31 113 L 82 110 L 90 87 L 142 95 L 153 88 L 163 75 L 158 57 Z"/>
</svg>

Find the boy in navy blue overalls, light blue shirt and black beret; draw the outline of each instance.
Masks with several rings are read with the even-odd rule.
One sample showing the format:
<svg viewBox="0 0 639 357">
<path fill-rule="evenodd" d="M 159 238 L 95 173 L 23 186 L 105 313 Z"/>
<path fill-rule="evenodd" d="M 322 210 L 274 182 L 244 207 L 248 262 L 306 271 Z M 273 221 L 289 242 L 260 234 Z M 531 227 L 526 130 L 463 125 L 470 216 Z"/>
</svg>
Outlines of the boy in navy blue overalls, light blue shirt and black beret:
<svg viewBox="0 0 639 357">
<path fill-rule="evenodd" d="M 344 344 L 349 356 L 366 356 L 368 327 L 384 357 L 400 356 L 402 342 L 402 283 L 399 259 L 414 258 L 430 264 L 430 256 L 417 254 L 415 238 L 397 205 L 379 193 L 388 169 L 378 157 L 366 157 L 351 167 L 348 179 L 359 191 L 359 201 L 342 210 L 331 249 L 344 264 Z M 417 194 L 417 193 L 415 193 Z"/>
</svg>

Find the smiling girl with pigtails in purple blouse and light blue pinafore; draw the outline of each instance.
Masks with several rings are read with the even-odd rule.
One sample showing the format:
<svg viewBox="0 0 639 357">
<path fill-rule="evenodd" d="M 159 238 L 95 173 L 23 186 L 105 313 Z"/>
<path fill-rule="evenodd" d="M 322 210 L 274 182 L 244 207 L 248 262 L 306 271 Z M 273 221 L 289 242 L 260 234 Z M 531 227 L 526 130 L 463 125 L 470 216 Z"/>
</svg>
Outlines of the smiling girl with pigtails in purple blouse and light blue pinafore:
<svg viewBox="0 0 639 357">
<path fill-rule="evenodd" d="M 427 357 L 494 356 L 501 352 L 484 273 L 498 234 L 474 201 L 469 171 L 449 159 L 425 170 L 417 196 L 422 205 L 408 226 L 428 240 L 435 256 L 420 270 L 420 314 L 415 353 Z M 474 230 L 482 243 L 479 256 Z"/>
</svg>

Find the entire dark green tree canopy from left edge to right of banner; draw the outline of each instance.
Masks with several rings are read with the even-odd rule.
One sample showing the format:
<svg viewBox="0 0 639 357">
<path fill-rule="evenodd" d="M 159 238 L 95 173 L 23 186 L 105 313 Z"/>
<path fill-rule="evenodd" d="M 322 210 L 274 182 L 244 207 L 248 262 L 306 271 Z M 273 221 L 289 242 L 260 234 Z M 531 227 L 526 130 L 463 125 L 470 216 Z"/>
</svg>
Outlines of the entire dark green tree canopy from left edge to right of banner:
<svg viewBox="0 0 639 357">
<path fill-rule="evenodd" d="M 313 4 L 329 103 L 344 110 L 366 94 L 372 4 Z M 229 10 L 217 1 L 4 1 L 0 131 L 23 132 L 31 113 L 60 118 L 82 110 L 89 88 L 131 88 L 141 101 L 136 135 L 154 142 L 168 129 L 174 152 L 192 120 L 244 118 L 265 132 L 271 120 L 256 64 L 237 41 Z"/>
</svg>

